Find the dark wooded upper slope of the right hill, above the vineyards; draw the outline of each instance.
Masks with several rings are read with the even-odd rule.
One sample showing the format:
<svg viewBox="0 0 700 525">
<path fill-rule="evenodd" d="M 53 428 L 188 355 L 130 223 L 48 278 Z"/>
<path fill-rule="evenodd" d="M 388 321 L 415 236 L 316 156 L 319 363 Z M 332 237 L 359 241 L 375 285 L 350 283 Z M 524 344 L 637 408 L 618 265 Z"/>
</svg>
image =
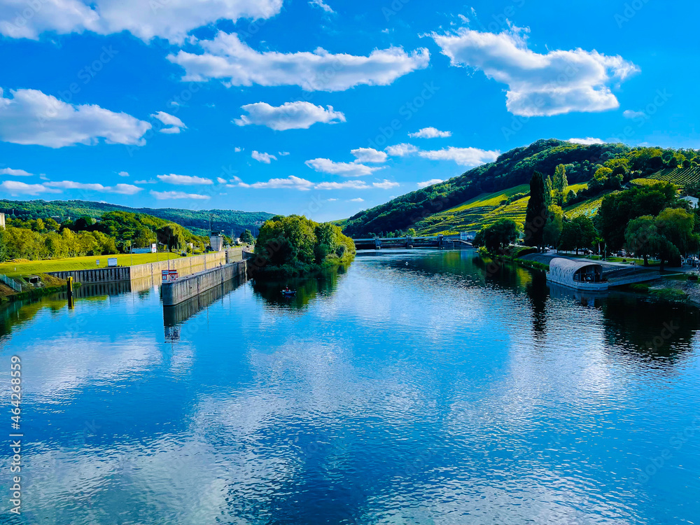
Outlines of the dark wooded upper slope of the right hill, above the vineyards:
<svg viewBox="0 0 700 525">
<path fill-rule="evenodd" d="M 661 148 L 630 148 L 624 144 L 573 144 L 542 139 L 529 146 L 503 153 L 489 162 L 442 183 L 397 197 L 386 204 L 360 211 L 346 221 L 344 233 L 351 237 L 379 232 L 407 230 L 419 221 L 455 207 L 467 200 L 527 183 L 538 170 L 554 174 L 557 165 L 566 165 L 569 183 L 590 181 L 603 165 L 619 170 L 627 178 L 645 176 L 664 167 L 697 162 L 697 152 Z M 621 161 L 614 161 L 622 159 Z"/>
</svg>

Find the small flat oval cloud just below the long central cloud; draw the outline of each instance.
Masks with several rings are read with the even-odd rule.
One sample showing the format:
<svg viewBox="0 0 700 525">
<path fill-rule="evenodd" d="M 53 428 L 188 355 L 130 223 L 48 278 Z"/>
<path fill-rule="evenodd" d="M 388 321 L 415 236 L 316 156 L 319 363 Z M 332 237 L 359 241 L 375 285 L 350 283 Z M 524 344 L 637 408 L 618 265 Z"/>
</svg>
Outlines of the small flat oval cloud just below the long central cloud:
<svg viewBox="0 0 700 525">
<path fill-rule="evenodd" d="M 315 106 L 311 102 L 286 102 L 281 106 L 270 106 L 265 102 L 241 106 L 248 115 L 234 119 L 239 126 L 251 124 L 267 126 L 271 130 L 307 130 L 316 123 L 337 124 L 345 122 L 340 111 L 333 111 L 333 106 Z"/>
</svg>

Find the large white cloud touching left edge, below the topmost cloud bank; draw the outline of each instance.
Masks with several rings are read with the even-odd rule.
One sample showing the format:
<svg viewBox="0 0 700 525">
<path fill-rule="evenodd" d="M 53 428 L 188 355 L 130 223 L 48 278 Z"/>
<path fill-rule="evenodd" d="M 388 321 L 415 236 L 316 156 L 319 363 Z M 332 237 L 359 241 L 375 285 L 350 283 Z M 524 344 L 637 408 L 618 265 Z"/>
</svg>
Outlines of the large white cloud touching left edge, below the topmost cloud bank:
<svg viewBox="0 0 700 525">
<path fill-rule="evenodd" d="M 127 113 L 113 113 L 96 105 L 66 104 L 38 90 L 0 88 L 0 140 L 13 144 L 35 144 L 62 148 L 75 144 L 143 146 L 151 124 Z"/>
</svg>

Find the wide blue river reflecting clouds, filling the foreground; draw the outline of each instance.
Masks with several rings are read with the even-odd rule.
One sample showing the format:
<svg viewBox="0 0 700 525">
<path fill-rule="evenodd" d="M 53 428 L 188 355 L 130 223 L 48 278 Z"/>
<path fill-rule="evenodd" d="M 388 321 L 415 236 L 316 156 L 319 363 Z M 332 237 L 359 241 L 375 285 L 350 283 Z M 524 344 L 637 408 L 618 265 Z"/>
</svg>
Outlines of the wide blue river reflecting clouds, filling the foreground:
<svg viewBox="0 0 700 525">
<path fill-rule="evenodd" d="M 474 251 L 319 279 L 1 312 L 21 516 L 55 525 L 691 524 L 700 313 L 577 295 Z"/>
</svg>

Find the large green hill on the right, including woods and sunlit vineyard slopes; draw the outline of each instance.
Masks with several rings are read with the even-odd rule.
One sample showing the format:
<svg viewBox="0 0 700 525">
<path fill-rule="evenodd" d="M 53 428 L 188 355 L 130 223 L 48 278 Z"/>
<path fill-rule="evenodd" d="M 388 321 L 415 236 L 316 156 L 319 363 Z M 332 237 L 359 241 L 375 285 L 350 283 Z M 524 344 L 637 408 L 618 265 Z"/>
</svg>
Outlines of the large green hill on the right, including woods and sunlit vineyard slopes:
<svg viewBox="0 0 700 525">
<path fill-rule="evenodd" d="M 603 165 L 626 182 L 664 168 L 696 167 L 698 160 L 694 150 L 630 148 L 624 144 L 583 145 L 543 139 L 503 153 L 496 162 L 475 167 L 453 179 L 360 211 L 346 221 L 344 232 L 352 237 L 408 228 L 423 233 L 447 232 L 477 229 L 500 216 L 524 217 L 527 201 L 514 197 L 527 191 L 524 185 L 535 170 L 551 176 L 560 164 L 566 166 L 570 184 L 593 183 L 587 195 L 579 197 L 577 203 L 572 203 L 565 211 L 570 216 L 593 214 L 603 194 L 615 190 L 615 184 L 605 186 L 594 179 Z M 503 203 L 505 200 L 510 202 Z"/>
</svg>

